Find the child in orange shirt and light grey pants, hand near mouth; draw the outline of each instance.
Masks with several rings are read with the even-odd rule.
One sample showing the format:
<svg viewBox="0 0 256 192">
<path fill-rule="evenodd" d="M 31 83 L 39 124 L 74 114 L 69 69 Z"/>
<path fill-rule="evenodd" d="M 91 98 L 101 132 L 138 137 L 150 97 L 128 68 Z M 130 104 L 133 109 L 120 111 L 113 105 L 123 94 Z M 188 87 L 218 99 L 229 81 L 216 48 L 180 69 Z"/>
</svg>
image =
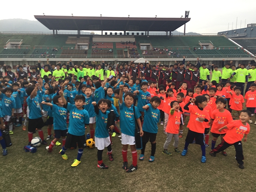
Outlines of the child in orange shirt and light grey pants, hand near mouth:
<svg viewBox="0 0 256 192">
<path fill-rule="evenodd" d="M 168 123 L 165 130 L 167 133 L 167 138 L 164 143 L 164 150 L 162 151 L 163 154 L 172 155 L 172 153 L 168 152 L 167 150 L 170 142 L 172 141 L 172 136 L 174 137 L 174 151 L 180 154 L 180 150 L 178 149 L 178 143 L 179 143 L 179 128 L 180 128 L 180 124 L 182 124 L 181 115 L 182 115 L 182 112 L 180 111 L 180 105 L 178 101 L 172 101 Z"/>
</svg>

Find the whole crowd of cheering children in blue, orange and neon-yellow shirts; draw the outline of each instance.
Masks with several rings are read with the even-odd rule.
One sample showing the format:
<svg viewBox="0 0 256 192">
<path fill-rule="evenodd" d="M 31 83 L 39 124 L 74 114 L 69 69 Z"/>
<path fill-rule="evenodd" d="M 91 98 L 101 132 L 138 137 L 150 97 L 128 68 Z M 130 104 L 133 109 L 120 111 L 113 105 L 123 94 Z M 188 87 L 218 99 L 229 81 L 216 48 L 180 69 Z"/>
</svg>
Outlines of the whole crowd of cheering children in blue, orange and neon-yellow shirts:
<svg viewBox="0 0 256 192">
<path fill-rule="evenodd" d="M 102 161 L 103 150 L 108 149 L 108 158 L 113 161 L 112 137 L 118 134 L 122 143 L 122 168 L 133 172 L 138 169 L 137 150 L 141 150 L 139 160 L 144 160 L 148 141 L 151 143 L 149 162 L 154 162 L 160 123 L 166 134 L 163 154 L 172 155 L 168 146 L 173 137 L 174 152 L 186 156 L 189 144 L 199 144 L 201 162 L 205 163 L 208 133 L 211 132 L 210 155 L 222 152 L 227 156 L 225 149 L 234 145 L 239 168 L 244 168 L 241 141 L 244 135 L 244 141 L 247 140 L 250 131 L 247 122 L 253 123 L 250 118 L 256 108 L 256 64 L 249 70 L 244 64 L 236 69 L 232 62 L 225 64 L 223 60 L 222 72 L 212 64 L 211 82 L 210 70 L 206 64 L 201 65 L 199 59 L 195 65 L 190 62 L 184 65 L 185 58 L 174 66 L 160 62 L 153 66 L 148 62 L 136 66 L 130 62 L 117 65 L 116 71 L 110 66 L 106 78 L 104 62 L 98 65 L 84 62 L 78 66 L 72 65 L 70 60 L 67 64 L 49 65 L 47 59 L 47 64 L 41 65 L 38 61 L 38 66 L 28 66 L 27 72 L 17 66 L 16 74 L 10 66 L 4 65 L 5 76 L 0 76 L 0 128 L 8 130 L 10 135 L 15 135 L 14 127 L 27 129 L 28 145 L 37 130 L 48 152 L 52 152 L 55 145 L 61 145 L 62 138 L 59 153 L 64 160 L 68 159 L 68 148 L 78 148 L 77 158 L 71 165 L 75 167 L 81 163 L 88 126 L 90 138 L 94 138 L 98 149 L 97 165 L 103 169 L 108 168 Z M 244 102 L 247 110 L 243 110 Z M 186 119 L 189 119 L 188 133 L 184 149 L 180 151 L 179 138 L 183 137 Z M 120 122 L 120 130 L 117 122 Z M 47 137 L 42 130 L 45 125 L 48 126 Z M 52 135 L 54 139 L 48 145 L 46 140 Z M 215 147 L 218 137 L 221 143 Z M 3 155 L 7 155 L 1 132 L 0 144 Z M 132 153 L 130 166 L 128 145 Z"/>
</svg>

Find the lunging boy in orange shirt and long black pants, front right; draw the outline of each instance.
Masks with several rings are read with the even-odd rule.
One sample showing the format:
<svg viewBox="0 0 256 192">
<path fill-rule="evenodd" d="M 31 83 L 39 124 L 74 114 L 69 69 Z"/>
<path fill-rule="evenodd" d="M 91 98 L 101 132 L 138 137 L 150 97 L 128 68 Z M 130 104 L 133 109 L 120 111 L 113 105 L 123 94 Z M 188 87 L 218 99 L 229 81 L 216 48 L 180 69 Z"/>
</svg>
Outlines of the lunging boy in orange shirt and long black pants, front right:
<svg viewBox="0 0 256 192">
<path fill-rule="evenodd" d="M 210 155 L 216 157 L 216 154 L 222 152 L 229 146 L 234 145 L 236 149 L 236 161 L 239 164 L 240 169 L 244 169 L 244 155 L 242 148 L 242 138 L 244 142 L 247 141 L 247 135 L 250 132 L 250 125 L 247 123 L 251 118 L 251 112 L 248 110 L 242 110 L 239 115 L 239 120 L 232 121 L 226 126 L 219 129 L 221 132 L 223 129 L 228 129 L 226 135 L 223 137 L 221 144 L 210 151 Z"/>
</svg>

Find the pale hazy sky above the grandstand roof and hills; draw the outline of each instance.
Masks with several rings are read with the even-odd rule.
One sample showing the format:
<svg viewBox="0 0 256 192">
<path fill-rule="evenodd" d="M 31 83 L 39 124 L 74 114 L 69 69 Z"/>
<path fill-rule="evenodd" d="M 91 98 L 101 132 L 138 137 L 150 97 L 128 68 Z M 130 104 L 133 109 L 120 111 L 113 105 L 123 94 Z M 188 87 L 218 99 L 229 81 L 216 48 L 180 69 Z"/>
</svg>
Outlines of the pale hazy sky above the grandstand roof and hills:
<svg viewBox="0 0 256 192">
<path fill-rule="evenodd" d="M 217 33 L 220 31 L 242 28 L 246 24 L 256 23 L 256 0 L 2 0 L 0 20 L 22 18 L 35 20 L 34 15 L 61 16 L 110 16 L 110 17 L 184 17 L 189 10 L 190 22 L 186 32 Z M 183 31 L 184 27 L 178 29 Z"/>
</svg>

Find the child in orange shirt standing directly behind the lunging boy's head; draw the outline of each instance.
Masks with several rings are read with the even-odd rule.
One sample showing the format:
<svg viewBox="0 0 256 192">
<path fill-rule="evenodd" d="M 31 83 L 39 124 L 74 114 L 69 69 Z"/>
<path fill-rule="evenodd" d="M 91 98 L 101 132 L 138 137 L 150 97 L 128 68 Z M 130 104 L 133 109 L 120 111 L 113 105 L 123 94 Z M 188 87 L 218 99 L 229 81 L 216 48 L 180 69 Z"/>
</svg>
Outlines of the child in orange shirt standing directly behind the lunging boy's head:
<svg viewBox="0 0 256 192">
<path fill-rule="evenodd" d="M 233 94 L 231 91 L 229 92 L 232 96 L 232 103 L 230 108 L 232 109 L 232 118 L 233 120 L 236 119 L 236 116 L 240 113 L 240 111 L 243 109 L 243 103 L 244 103 L 244 97 L 241 95 L 241 88 L 235 87 L 234 88 L 235 94 Z"/>
</svg>

